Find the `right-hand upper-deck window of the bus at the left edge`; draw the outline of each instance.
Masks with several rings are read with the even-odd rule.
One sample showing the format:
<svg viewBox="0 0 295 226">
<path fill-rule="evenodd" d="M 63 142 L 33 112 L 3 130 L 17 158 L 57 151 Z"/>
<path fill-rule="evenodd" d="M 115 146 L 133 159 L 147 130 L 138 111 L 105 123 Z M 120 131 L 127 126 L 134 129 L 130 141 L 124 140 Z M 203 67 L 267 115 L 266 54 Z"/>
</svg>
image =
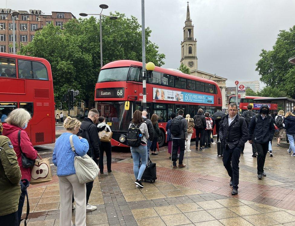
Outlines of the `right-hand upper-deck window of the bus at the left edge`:
<svg viewBox="0 0 295 226">
<path fill-rule="evenodd" d="M 48 80 L 45 65 L 36 61 L 18 60 L 18 75 L 19 78 Z"/>
</svg>

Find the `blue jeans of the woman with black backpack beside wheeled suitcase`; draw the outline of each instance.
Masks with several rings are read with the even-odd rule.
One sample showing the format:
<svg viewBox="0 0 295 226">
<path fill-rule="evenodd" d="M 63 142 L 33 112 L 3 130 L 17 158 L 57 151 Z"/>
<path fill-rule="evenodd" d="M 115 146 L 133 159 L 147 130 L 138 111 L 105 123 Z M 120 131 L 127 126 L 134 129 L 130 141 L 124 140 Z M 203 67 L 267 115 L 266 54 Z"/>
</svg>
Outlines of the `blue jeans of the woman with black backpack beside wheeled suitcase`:
<svg viewBox="0 0 295 226">
<path fill-rule="evenodd" d="M 141 180 L 142 174 L 147 166 L 148 151 L 147 146 L 130 147 L 133 159 L 133 173 L 135 179 Z M 141 156 L 141 166 L 139 167 L 139 155 Z"/>
</svg>

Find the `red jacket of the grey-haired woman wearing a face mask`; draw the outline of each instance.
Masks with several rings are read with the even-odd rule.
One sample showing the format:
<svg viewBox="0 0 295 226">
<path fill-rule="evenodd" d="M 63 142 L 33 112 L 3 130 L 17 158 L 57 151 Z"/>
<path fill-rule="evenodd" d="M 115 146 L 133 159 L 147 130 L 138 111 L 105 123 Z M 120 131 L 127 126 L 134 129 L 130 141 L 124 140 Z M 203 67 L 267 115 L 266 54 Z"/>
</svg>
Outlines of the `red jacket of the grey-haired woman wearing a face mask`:
<svg viewBox="0 0 295 226">
<path fill-rule="evenodd" d="M 28 179 L 31 180 L 31 168 L 24 168 L 22 166 L 21 162 L 21 151 L 20 147 L 18 145 L 18 131 L 21 130 L 21 151 L 32 160 L 35 160 L 37 158 L 37 151 L 34 149 L 30 139 L 29 135 L 26 131 L 23 129 L 10 125 L 8 123 L 3 124 L 3 134 L 4 136 L 7 136 L 12 145 L 13 149 L 17 155 L 18 158 L 18 165 L 21 169 L 21 179 Z"/>
</svg>

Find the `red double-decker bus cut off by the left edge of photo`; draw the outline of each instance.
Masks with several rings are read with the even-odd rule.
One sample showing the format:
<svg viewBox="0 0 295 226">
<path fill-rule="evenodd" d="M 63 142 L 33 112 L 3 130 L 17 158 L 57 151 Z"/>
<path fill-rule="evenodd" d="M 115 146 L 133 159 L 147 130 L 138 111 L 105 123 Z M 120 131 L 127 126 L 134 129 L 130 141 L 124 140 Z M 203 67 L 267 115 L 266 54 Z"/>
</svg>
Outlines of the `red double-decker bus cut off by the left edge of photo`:
<svg viewBox="0 0 295 226">
<path fill-rule="evenodd" d="M 51 67 L 37 57 L 0 53 L 0 118 L 15 108 L 31 114 L 25 129 L 33 145 L 55 142 L 54 97 Z"/>
</svg>

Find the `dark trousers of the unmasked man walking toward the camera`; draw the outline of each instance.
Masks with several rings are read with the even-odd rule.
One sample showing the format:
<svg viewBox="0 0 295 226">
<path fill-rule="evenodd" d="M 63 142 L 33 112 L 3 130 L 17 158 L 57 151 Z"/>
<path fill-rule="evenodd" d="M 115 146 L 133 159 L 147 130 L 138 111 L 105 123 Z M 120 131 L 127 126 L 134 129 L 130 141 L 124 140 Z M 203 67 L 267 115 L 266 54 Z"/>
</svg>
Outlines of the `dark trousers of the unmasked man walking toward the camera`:
<svg viewBox="0 0 295 226">
<path fill-rule="evenodd" d="M 231 177 L 232 187 L 238 189 L 239 184 L 239 163 L 241 156 L 241 148 L 236 146 L 235 148 L 226 147 L 223 150 L 223 165 L 227 170 L 227 173 Z"/>
</svg>

